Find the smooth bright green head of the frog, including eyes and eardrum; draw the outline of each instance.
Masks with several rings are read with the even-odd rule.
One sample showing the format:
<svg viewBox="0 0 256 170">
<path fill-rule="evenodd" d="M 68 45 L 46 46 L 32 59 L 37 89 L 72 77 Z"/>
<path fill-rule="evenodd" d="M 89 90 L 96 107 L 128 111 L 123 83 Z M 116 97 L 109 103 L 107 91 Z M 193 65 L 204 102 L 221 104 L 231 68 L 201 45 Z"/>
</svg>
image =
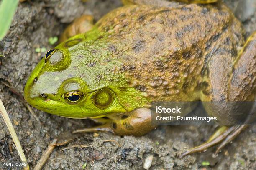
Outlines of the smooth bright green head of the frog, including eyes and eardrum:
<svg viewBox="0 0 256 170">
<path fill-rule="evenodd" d="M 49 50 L 26 83 L 25 99 L 39 110 L 77 118 L 141 107 L 146 99 L 118 73 L 123 63 L 109 45 L 103 35 L 91 31 Z"/>
</svg>

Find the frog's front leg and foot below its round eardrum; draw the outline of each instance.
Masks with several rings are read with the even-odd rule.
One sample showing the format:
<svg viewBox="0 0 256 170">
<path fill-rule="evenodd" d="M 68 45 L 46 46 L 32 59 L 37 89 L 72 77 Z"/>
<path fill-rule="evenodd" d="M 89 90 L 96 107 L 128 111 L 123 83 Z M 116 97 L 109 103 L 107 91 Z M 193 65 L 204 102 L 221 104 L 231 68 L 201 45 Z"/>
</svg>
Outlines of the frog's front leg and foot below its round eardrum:
<svg viewBox="0 0 256 170">
<path fill-rule="evenodd" d="M 98 123 L 102 123 L 103 125 L 92 128 L 78 129 L 73 133 L 103 131 L 111 132 L 120 136 L 141 136 L 156 128 L 156 126 L 151 124 L 151 110 L 148 108 L 139 108 L 133 110 L 128 114 L 123 115 L 121 119 L 118 120 L 101 118 L 96 121 Z"/>
</svg>

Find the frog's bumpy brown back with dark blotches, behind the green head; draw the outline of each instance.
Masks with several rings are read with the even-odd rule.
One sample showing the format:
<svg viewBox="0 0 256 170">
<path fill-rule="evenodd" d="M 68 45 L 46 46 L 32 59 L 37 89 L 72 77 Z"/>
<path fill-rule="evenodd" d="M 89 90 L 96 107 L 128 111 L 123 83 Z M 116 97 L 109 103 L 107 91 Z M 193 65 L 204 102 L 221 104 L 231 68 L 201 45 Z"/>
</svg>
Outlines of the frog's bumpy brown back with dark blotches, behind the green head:
<svg viewBox="0 0 256 170">
<path fill-rule="evenodd" d="M 132 87 L 155 100 L 163 95 L 169 100 L 195 100 L 216 47 L 222 45 L 235 57 L 243 45 L 241 23 L 222 4 L 125 6 L 97 26 L 109 33 L 112 57 L 123 60 L 118 72 L 125 72 Z"/>
</svg>

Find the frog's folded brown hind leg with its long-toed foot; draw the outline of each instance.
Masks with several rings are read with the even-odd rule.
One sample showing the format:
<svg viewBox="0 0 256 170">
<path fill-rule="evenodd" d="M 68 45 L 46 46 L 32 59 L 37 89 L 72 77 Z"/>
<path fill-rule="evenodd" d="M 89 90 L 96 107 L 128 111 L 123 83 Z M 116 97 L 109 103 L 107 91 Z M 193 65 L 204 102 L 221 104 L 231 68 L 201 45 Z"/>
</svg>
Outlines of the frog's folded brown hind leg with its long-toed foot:
<svg viewBox="0 0 256 170">
<path fill-rule="evenodd" d="M 233 119 L 233 116 L 236 117 L 238 114 L 236 113 L 236 108 L 228 112 L 227 110 L 229 108 L 228 105 L 225 105 L 225 102 L 254 101 L 256 97 L 256 32 L 248 38 L 235 61 L 232 62 L 228 57 L 230 55 L 225 53 L 224 50 L 220 52 L 221 55 L 216 53 L 216 55 L 212 57 L 212 62 L 210 62 L 208 67 L 210 73 L 208 75 L 210 90 L 207 93 L 202 93 L 202 101 L 221 101 L 221 107 L 218 105 L 219 102 L 216 102 L 216 105 L 206 105 L 205 109 L 212 116 L 217 117 L 217 120 L 220 120 L 223 124 L 227 124 L 229 121 L 236 122 L 236 118 Z M 225 67 L 231 64 L 230 62 L 233 63 L 233 67 Z M 231 74 L 227 74 L 229 71 Z M 245 115 L 243 115 L 243 117 L 245 117 Z M 252 118 L 255 119 L 255 115 L 247 117 L 244 125 L 221 127 L 207 142 L 188 150 L 183 153 L 181 157 L 191 153 L 202 152 L 220 143 L 216 150 L 216 153 L 218 153 L 225 145 L 236 138 L 242 130 L 248 127 L 250 123 L 248 120 L 253 121 L 251 120 Z"/>
</svg>

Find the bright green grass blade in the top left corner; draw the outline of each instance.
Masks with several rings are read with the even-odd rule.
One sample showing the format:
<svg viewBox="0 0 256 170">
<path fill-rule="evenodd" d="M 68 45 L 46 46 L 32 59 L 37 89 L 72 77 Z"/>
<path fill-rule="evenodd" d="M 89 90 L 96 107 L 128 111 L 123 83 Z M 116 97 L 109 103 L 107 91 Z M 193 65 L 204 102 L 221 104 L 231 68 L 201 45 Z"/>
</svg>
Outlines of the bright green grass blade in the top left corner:
<svg viewBox="0 0 256 170">
<path fill-rule="evenodd" d="M 10 28 L 19 0 L 2 0 L 0 4 L 0 40 Z"/>
</svg>

